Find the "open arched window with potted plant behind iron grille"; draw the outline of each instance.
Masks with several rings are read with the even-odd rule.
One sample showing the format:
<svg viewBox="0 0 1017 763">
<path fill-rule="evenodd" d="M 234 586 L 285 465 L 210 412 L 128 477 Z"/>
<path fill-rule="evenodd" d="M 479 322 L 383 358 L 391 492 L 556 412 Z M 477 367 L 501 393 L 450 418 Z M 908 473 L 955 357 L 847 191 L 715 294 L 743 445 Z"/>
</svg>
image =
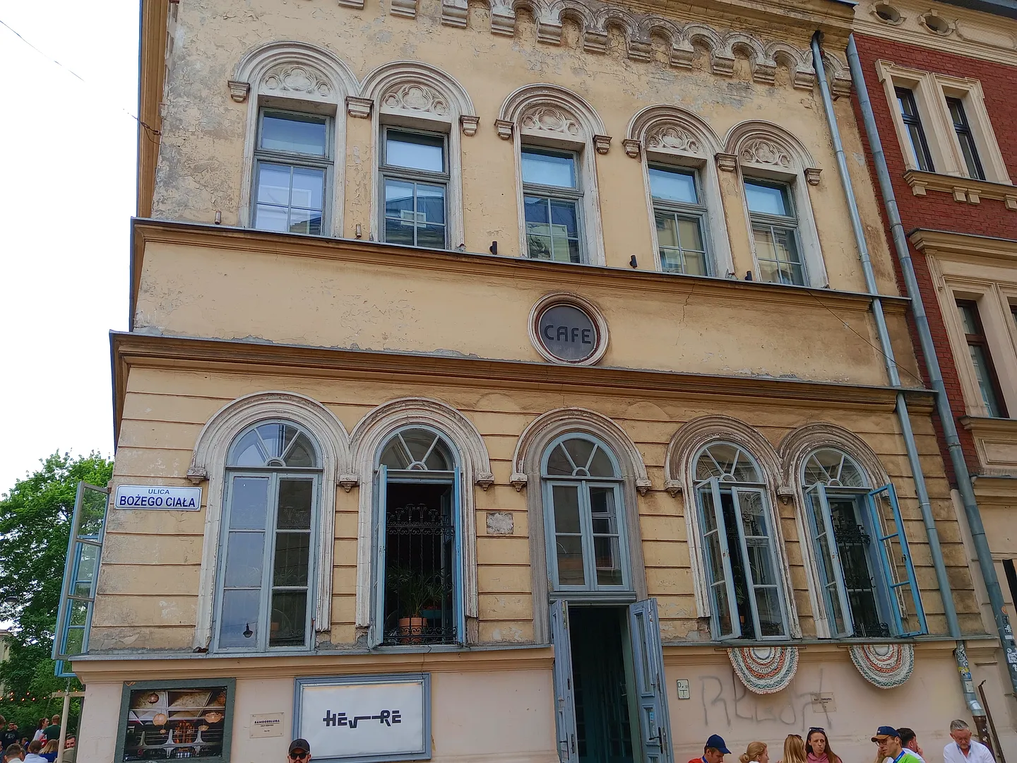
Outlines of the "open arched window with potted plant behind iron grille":
<svg viewBox="0 0 1017 763">
<path fill-rule="evenodd" d="M 466 643 L 463 476 L 438 432 L 402 429 L 381 448 L 376 472 L 375 646 Z"/>
</svg>

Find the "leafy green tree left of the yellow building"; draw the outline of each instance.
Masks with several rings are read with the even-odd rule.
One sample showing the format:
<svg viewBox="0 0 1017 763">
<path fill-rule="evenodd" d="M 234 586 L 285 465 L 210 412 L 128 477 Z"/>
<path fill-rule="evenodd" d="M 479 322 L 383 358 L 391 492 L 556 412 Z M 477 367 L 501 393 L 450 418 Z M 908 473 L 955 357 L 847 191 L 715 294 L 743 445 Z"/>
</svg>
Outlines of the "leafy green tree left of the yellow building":
<svg viewBox="0 0 1017 763">
<path fill-rule="evenodd" d="M 0 495 L 0 620 L 12 624 L 10 656 L 0 662 L 0 714 L 22 732 L 59 712 L 59 701 L 48 697 L 66 686 L 53 674 L 50 654 L 77 483 L 104 486 L 113 476 L 113 462 L 98 453 L 58 452 L 41 463 Z"/>
</svg>

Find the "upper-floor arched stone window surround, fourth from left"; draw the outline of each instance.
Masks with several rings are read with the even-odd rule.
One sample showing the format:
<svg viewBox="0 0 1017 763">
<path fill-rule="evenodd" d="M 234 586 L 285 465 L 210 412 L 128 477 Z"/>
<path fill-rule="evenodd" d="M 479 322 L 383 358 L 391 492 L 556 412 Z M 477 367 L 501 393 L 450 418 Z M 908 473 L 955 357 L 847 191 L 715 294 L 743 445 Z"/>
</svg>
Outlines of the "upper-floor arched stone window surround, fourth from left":
<svg viewBox="0 0 1017 763">
<path fill-rule="evenodd" d="M 649 162 L 651 159 L 665 164 L 695 167 L 700 173 L 702 202 L 710 211 L 704 217 L 709 241 L 709 257 L 713 275 L 725 276 L 734 272 L 731 242 L 724 220 L 724 199 L 720 191 L 720 177 L 715 155 L 723 151 L 723 143 L 709 124 L 696 114 L 671 104 L 648 106 L 636 113 L 629 122 L 622 140 L 625 154 L 640 159 L 643 165 L 643 187 L 646 192 L 647 212 L 653 236 L 654 257 L 657 270 L 663 270 L 657 225 L 650 191 Z"/>
</svg>

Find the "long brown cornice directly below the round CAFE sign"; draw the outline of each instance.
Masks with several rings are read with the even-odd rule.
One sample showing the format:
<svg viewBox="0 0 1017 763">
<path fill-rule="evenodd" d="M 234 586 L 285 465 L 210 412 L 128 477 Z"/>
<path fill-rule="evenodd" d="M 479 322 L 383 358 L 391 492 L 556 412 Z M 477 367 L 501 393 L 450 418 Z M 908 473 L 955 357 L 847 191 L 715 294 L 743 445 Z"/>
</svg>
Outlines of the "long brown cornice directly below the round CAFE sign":
<svg viewBox="0 0 1017 763">
<path fill-rule="evenodd" d="M 631 398 L 690 398 L 718 404 L 753 400 L 768 406 L 848 408 L 890 413 L 897 390 L 800 379 L 678 373 L 610 366 L 572 366 L 522 360 L 490 360 L 401 352 L 305 347 L 266 342 L 110 333 L 113 417 L 119 436 L 127 375 L 132 366 L 240 373 L 292 374 L 318 378 L 395 382 L 453 387 L 489 387 Z M 933 409 L 928 390 L 906 389 L 919 414 Z"/>
</svg>

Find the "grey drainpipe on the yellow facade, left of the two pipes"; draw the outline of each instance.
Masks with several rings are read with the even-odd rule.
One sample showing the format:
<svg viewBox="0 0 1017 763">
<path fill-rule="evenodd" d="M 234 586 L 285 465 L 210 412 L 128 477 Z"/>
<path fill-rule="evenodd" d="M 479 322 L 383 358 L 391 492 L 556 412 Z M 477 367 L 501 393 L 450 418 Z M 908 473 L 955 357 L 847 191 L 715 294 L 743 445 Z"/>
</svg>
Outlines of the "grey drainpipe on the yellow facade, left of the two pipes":
<svg viewBox="0 0 1017 763">
<path fill-rule="evenodd" d="M 854 198 L 851 176 L 847 171 L 844 144 L 840 139 L 837 116 L 833 111 L 833 99 L 830 97 L 830 84 L 826 79 L 826 67 L 823 65 L 823 54 L 820 50 L 821 37 L 822 33 L 820 32 L 813 35 L 813 65 L 816 67 L 816 78 L 819 79 L 820 93 L 823 95 L 823 108 L 826 111 L 827 122 L 830 124 L 830 135 L 833 138 L 833 146 L 837 154 L 837 169 L 840 172 L 840 182 L 844 187 L 844 195 L 847 196 L 851 229 L 854 231 L 854 240 L 858 246 L 861 270 L 865 274 L 865 288 L 870 294 L 874 295 L 873 315 L 876 317 L 876 330 L 880 336 L 883 357 L 886 359 L 887 374 L 890 377 L 890 384 L 900 390 L 900 374 L 897 372 L 897 362 L 893 356 L 893 345 L 890 343 L 890 333 L 887 331 L 886 318 L 883 315 L 883 302 L 879 297 L 879 288 L 876 286 L 876 276 L 873 274 L 873 262 L 869 257 L 869 245 L 865 243 L 865 233 L 861 227 L 861 217 L 858 214 L 858 204 Z M 907 460 L 911 465 L 911 474 L 914 476 L 914 488 L 918 494 L 918 506 L 921 508 L 921 520 L 925 525 L 925 534 L 929 536 L 929 548 L 933 554 L 933 567 L 936 568 L 936 581 L 939 584 L 940 596 L 943 599 L 943 611 L 946 614 L 947 628 L 950 630 L 952 638 L 960 638 L 957 609 L 954 606 L 953 595 L 950 593 L 950 579 L 947 577 L 947 568 L 943 562 L 943 550 L 940 548 L 940 535 L 936 528 L 933 507 L 929 502 L 925 475 L 921 470 L 921 462 L 918 460 L 918 447 L 914 442 L 914 432 L 911 430 L 911 418 L 907 412 L 907 402 L 904 400 L 903 392 L 897 393 L 897 417 L 900 419 L 900 427 L 904 434 L 904 447 L 907 449 Z"/>
</svg>

